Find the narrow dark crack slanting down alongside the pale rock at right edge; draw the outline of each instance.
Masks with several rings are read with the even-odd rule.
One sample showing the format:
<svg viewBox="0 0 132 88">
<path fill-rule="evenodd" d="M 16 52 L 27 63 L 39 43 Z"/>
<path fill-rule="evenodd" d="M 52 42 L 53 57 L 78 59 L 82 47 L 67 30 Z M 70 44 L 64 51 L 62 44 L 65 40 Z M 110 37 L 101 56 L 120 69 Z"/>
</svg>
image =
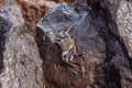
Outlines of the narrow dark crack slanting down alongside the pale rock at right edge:
<svg viewBox="0 0 132 88">
<path fill-rule="evenodd" d="M 129 61 L 129 68 L 131 68 L 131 72 L 132 72 L 132 58 L 129 56 L 129 52 L 128 52 L 128 50 L 127 50 L 127 46 L 125 46 L 125 44 L 124 44 L 124 42 L 123 42 L 123 38 L 119 35 L 119 32 L 118 32 L 118 25 L 116 24 L 116 22 L 114 21 L 112 21 L 112 16 L 111 16 L 111 13 L 110 13 L 110 11 L 108 10 L 108 9 L 102 9 L 103 10 L 103 19 L 105 19 L 105 21 L 106 21 L 106 26 L 107 26 L 107 29 L 108 29 L 108 33 L 109 33 L 109 35 L 111 35 L 116 41 L 118 41 L 119 42 L 119 45 L 121 46 L 121 48 L 122 48 L 122 52 L 123 52 L 123 54 L 124 54 L 124 57 L 125 58 L 128 58 L 128 61 Z M 110 23 L 112 23 L 112 24 L 114 24 L 114 25 L 109 25 Z M 112 30 L 113 29 L 110 29 L 110 26 L 113 26 L 116 30 L 114 31 L 117 31 L 117 34 L 114 34 L 113 32 L 112 32 Z M 105 36 L 106 37 L 106 36 Z M 108 50 L 106 50 L 106 51 L 109 51 L 110 48 L 108 47 Z M 112 53 L 110 53 L 110 52 L 108 52 L 109 54 L 112 54 Z M 109 54 L 107 54 L 107 56 L 109 57 Z M 114 54 L 113 55 L 110 55 L 110 56 L 114 56 Z M 107 61 L 108 62 L 108 61 Z"/>
</svg>

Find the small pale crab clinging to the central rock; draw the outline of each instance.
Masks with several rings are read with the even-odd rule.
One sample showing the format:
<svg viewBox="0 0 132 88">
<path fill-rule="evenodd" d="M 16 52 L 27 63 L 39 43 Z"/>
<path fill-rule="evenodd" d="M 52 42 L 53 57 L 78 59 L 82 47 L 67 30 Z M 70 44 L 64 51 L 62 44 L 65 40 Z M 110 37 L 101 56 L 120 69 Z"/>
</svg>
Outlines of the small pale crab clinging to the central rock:
<svg viewBox="0 0 132 88">
<path fill-rule="evenodd" d="M 76 65 L 74 61 L 74 56 L 76 53 L 75 42 L 72 36 L 68 34 L 70 29 L 64 28 L 62 31 L 56 33 L 55 35 L 55 43 L 57 43 L 62 48 L 62 58 L 64 62 L 70 64 L 72 66 Z"/>
</svg>

